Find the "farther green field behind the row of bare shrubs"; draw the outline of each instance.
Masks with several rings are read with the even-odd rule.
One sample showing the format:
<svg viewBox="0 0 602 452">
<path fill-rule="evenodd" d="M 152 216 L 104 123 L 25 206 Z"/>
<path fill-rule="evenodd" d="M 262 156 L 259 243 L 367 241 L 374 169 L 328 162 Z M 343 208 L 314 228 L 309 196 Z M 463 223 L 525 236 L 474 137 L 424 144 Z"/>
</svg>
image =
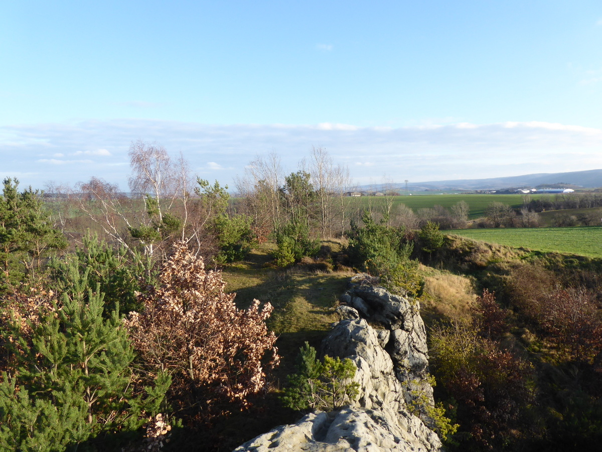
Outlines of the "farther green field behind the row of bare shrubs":
<svg viewBox="0 0 602 452">
<path fill-rule="evenodd" d="M 529 195 L 531 199 L 542 199 L 556 195 Z M 393 209 L 398 204 L 405 204 L 414 212 L 418 212 L 418 209 L 425 207 L 433 207 L 436 205 L 449 209 L 456 202 L 464 201 L 467 202 L 470 207 L 469 219 L 480 218 L 485 216 L 485 209 L 492 202 L 503 202 L 508 204 L 513 209 L 520 209 L 523 207 L 524 195 L 489 195 L 489 194 L 467 194 L 462 193 L 458 195 L 420 195 L 420 196 L 394 196 Z M 357 202 L 360 208 L 373 207 L 377 208 L 385 204 L 386 199 L 384 196 L 361 196 L 354 199 L 353 206 Z"/>
</svg>

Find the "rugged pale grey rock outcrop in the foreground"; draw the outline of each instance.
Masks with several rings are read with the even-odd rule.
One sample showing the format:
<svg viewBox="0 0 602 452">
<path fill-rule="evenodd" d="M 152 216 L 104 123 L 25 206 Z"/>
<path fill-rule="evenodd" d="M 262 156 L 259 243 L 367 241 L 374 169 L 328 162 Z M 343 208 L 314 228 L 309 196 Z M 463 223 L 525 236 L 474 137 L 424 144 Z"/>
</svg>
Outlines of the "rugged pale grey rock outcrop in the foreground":
<svg viewBox="0 0 602 452">
<path fill-rule="evenodd" d="M 440 450 L 438 436 L 407 408 L 418 394 L 433 403 L 424 380 L 428 354 L 418 303 L 366 284 L 362 275 L 352 278 L 341 303 L 343 319 L 324 339 L 322 352 L 355 362 L 355 400 L 276 427 L 235 452 Z"/>
</svg>

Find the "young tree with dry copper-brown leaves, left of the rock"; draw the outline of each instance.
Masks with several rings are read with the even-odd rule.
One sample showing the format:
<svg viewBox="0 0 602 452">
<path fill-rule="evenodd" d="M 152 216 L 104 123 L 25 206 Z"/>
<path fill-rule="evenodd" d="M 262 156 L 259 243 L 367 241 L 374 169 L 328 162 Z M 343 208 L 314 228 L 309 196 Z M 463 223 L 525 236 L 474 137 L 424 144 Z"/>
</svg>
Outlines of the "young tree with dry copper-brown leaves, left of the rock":
<svg viewBox="0 0 602 452">
<path fill-rule="evenodd" d="M 132 312 L 126 324 L 141 359 L 151 368 L 172 374 L 171 392 L 182 409 L 201 409 L 229 401 L 249 404 L 248 396 L 265 388 L 262 359 L 278 364 L 276 336 L 265 320 L 267 303 L 255 300 L 247 310 L 225 293 L 219 271 L 206 271 L 179 242 L 163 265 L 160 283 L 140 295 L 143 312 Z"/>
</svg>

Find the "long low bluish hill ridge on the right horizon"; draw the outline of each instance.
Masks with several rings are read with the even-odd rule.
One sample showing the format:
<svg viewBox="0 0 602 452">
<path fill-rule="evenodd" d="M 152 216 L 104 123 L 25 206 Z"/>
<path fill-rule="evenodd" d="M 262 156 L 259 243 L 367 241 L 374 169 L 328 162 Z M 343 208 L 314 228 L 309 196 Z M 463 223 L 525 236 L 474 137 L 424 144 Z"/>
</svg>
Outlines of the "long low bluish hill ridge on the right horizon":
<svg viewBox="0 0 602 452">
<path fill-rule="evenodd" d="M 602 187 L 602 169 L 590 169 L 588 171 L 571 171 L 556 173 L 526 174 L 524 176 L 494 177 L 489 179 L 461 179 L 461 180 L 442 180 L 408 183 L 408 190 L 414 192 L 423 192 L 430 190 L 503 190 L 509 187 L 532 188 L 542 184 L 569 184 L 583 188 Z M 382 190 L 382 184 L 374 187 Z M 395 190 L 405 190 L 404 183 L 394 183 Z M 368 188 L 368 186 L 362 187 Z"/>
</svg>

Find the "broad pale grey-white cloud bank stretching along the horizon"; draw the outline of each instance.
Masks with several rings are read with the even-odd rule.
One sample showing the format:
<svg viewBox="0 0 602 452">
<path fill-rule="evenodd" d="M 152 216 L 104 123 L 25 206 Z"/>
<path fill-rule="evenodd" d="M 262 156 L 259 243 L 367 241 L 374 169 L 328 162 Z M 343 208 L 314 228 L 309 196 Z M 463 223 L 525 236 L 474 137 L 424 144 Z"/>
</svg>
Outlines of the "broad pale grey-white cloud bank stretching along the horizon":
<svg viewBox="0 0 602 452">
<path fill-rule="evenodd" d="M 200 177 L 231 187 L 256 155 L 276 152 L 285 171 L 296 171 L 312 145 L 349 165 L 358 183 L 385 174 L 416 182 L 602 168 L 602 130 L 541 121 L 392 128 L 114 120 L 0 127 L 0 177 L 28 173 L 20 178 L 24 185 L 43 187 L 48 180 L 76 183 L 96 176 L 125 189 L 129 143 L 140 138 L 174 155 L 181 151 Z M 53 155 L 49 148 L 54 159 L 40 158 Z M 103 158 L 68 160 L 58 154 Z"/>
</svg>

